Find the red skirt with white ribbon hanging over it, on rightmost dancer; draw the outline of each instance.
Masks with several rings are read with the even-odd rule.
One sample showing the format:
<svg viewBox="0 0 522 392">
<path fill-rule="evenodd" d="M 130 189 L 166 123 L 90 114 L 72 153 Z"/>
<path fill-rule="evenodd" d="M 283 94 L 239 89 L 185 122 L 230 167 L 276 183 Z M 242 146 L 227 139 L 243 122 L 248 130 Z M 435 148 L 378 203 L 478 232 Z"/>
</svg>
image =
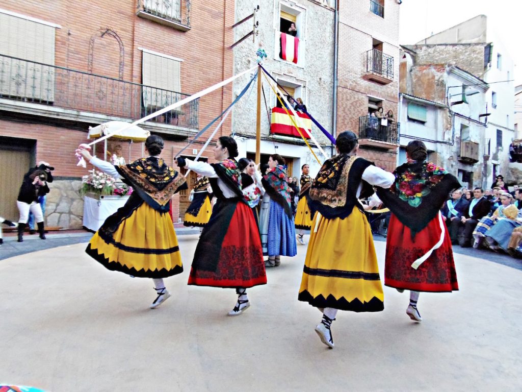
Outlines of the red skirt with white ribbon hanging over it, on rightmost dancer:
<svg viewBox="0 0 522 392">
<path fill-rule="evenodd" d="M 392 214 L 386 240 L 384 284 L 395 289 L 450 292 L 458 290 L 452 241 L 444 225 L 444 241 L 418 269 L 411 264 L 425 255 L 440 239 L 438 216 L 411 239 L 409 227 Z"/>
</svg>

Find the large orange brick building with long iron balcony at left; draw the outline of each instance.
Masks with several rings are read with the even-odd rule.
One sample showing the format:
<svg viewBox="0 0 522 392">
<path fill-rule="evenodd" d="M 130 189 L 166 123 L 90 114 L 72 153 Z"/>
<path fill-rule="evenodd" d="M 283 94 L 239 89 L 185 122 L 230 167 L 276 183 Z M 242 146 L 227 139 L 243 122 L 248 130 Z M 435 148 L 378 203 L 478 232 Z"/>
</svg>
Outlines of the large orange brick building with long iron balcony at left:
<svg viewBox="0 0 522 392">
<path fill-rule="evenodd" d="M 86 142 L 88 127 L 132 122 L 232 75 L 233 0 L 7 0 L 1 8 L 0 162 L 14 174 L 0 178 L 0 215 L 10 219 L 17 219 L 23 173 L 45 160 L 56 168 L 48 225 L 81 227 L 78 189 L 87 170 L 76 166 L 74 149 Z M 231 99 L 228 85 L 143 128 L 164 138 L 163 157 L 172 164 Z M 230 120 L 221 132 L 230 134 Z M 127 162 L 141 155 L 140 144 L 114 144 L 122 144 Z M 174 198 L 175 218 L 187 198 Z"/>
</svg>

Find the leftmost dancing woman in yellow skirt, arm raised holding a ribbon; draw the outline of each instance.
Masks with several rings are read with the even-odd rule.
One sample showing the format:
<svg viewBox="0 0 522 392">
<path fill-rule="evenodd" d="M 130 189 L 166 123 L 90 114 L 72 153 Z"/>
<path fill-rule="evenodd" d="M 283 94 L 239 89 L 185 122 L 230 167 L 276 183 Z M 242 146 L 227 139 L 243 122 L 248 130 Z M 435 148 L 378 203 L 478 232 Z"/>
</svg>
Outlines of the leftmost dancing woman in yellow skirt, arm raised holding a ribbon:
<svg viewBox="0 0 522 392">
<path fill-rule="evenodd" d="M 172 195 L 187 186 L 185 178 L 159 157 L 163 149 L 161 137 L 147 137 L 145 148 L 149 157 L 121 166 L 93 157 L 85 145 L 80 145 L 77 153 L 134 188 L 125 205 L 94 234 L 87 254 L 109 270 L 152 278 L 157 297 L 150 307 L 155 308 L 170 297 L 163 278 L 183 272 L 169 207 Z"/>
</svg>

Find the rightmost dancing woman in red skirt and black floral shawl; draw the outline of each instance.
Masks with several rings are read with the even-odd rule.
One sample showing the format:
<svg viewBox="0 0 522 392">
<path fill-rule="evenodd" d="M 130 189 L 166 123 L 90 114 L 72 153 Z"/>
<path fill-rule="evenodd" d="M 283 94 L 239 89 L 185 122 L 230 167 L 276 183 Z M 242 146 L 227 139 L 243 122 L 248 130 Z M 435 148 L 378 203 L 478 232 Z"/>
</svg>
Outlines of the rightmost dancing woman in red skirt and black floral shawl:
<svg viewBox="0 0 522 392">
<path fill-rule="evenodd" d="M 377 190 L 392 212 L 384 284 L 399 292 L 410 290 L 406 314 L 420 322 L 419 292 L 458 290 L 452 241 L 440 207 L 460 183 L 443 168 L 425 162 L 426 146 L 421 141 L 408 143 L 406 154 L 408 162 L 394 171 L 394 185 Z"/>
</svg>

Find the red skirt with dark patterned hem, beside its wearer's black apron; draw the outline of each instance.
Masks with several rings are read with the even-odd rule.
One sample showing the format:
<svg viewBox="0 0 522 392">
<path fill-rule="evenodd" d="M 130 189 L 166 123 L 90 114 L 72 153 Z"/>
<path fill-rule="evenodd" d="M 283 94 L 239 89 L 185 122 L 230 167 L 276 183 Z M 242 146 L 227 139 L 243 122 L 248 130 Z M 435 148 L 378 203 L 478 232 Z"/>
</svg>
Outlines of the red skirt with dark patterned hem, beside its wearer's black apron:
<svg viewBox="0 0 522 392">
<path fill-rule="evenodd" d="M 216 221 L 215 224 L 227 223 Z M 216 271 L 198 270 L 193 266 L 188 284 L 244 288 L 266 284 L 259 229 L 249 206 L 236 205 L 221 244 Z"/>
</svg>

